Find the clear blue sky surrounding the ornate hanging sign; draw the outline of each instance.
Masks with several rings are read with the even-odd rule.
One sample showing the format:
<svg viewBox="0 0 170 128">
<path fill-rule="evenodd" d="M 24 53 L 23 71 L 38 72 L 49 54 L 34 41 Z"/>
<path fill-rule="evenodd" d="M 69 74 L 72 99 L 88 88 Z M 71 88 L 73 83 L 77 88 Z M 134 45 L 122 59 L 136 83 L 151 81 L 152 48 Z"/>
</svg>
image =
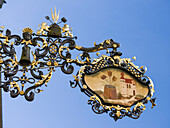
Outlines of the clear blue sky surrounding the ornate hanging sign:
<svg viewBox="0 0 170 128">
<path fill-rule="evenodd" d="M 25 27 L 37 31 L 46 22 L 50 8 L 60 9 L 73 27 L 76 43 L 93 46 L 112 38 L 121 43 L 122 57 L 136 56 L 135 64 L 148 68 L 155 84 L 157 106 L 147 109 L 138 120 L 128 117 L 115 122 L 108 114 L 97 115 L 87 105 L 88 97 L 72 89 L 60 69 L 33 102 L 3 93 L 4 128 L 169 128 L 169 0 L 6 0 L 0 10 L 0 26 L 21 34 Z M 47 21 L 48 22 L 48 21 Z M 79 54 L 79 53 L 77 53 Z M 76 68 L 77 70 L 78 68 Z M 74 72 L 76 74 L 76 72 Z"/>
</svg>

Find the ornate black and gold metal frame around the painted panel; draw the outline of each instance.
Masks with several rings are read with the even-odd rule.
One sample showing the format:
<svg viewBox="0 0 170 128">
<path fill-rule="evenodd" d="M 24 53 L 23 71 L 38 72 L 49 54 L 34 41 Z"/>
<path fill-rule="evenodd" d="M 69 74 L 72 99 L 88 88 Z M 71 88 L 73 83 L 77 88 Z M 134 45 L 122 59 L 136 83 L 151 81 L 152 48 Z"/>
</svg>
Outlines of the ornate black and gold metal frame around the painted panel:
<svg viewBox="0 0 170 128">
<path fill-rule="evenodd" d="M 135 57 L 133 57 L 135 59 Z M 103 62 L 104 61 L 104 64 Z M 102 64 L 101 64 L 102 62 Z M 108 104 L 103 101 L 103 99 L 91 90 L 84 80 L 84 76 L 86 74 L 95 74 L 102 69 L 107 68 L 115 68 L 121 69 L 123 71 L 128 72 L 131 76 L 133 76 L 139 82 L 145 84 L 149 91 L 145 98 L 136 101 L 133 105 L 127 107 L 120 104 Z M 141 113 L 146 109 L 145 105 L 150 101 L 152 103 L 152 108 L 156 105 L 155 99 L 152 99 L 154 91 L 154 84 L 152 80 L 144 76 L 146 72 L 146 67 L 141 66 L 140 68 L 133 64 L 130 58 L 121 59 L 120 56 L 117 55 L 111 57 L 102 55 L 102 57 L 95 60 L 95 63 L 92 65 L 86 65 L 81 67 L 77 76 L 75 77 L 74 82 L 71 82 L 71 86 L 74 88 L 77 85 L 81 88 L 81 91 L 90 97 L 88 104 L 92 106 L 92 110 L 97 114 L 108 113 L 111 117 L 115 119 L 121 119 L 124 116 L 129 116 L 133 119 L 137 119 L 140 117 Z"/>
</svg>

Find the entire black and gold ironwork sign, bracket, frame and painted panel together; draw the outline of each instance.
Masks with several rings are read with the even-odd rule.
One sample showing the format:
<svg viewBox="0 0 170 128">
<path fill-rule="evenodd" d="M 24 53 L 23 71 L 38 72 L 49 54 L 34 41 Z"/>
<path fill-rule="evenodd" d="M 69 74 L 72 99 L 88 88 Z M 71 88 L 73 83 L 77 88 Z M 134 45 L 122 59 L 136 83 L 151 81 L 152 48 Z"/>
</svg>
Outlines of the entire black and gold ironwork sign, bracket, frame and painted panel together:
<svg viewBox="0 0 170 128">
<path fill-rule="evenodd" d="M 52 14 L 52 21 L 45 18 L 50 25 L 43 22 L 38 31 L 24 28 L 22 37 L 12 35 L 10 30 L 0 30 L 0 73 L 1 88 L 10 92 L 11 97 L 24 96 L 27 101 L 33 101 L 36 93 L 47 86 L 55 68 L 61 68 L 65 74 L 72 74 L 74 66 L 80 67 L 70 86 L 79 86 L 81 91 L 89 96 L 88 104 L 97 114 L 109 113 L 115 120 L 124 116 L 139 118 L 145 104 L 150 101 L 155 106 L 153 97 L 154 84 L 145 76 L 147 68 L 136 66 L 136 59 L 121 58 L 117 51 L 120 44 L 112 39 L 104 40 L 100 44 L 94 42 L 93 47 L 82 47 L 76 44 L 72 28 L 60 23 L 67 22 L 66 18 L 59 20 L 56 8 Z M 16 51 L 22 48 L 22 54 Z M 71 51 L 80 51 L 77 57 Z M 107 55 L 98 51 L 105 50 Z M 96 58 L 91 57 L 96 53 Z M 20 60 L 18 60 L 18 56 Z M 47 70 L 47 71 L 44 71 Z M 27 86 L 26 86 L 27 85 Z"/>
</svg>

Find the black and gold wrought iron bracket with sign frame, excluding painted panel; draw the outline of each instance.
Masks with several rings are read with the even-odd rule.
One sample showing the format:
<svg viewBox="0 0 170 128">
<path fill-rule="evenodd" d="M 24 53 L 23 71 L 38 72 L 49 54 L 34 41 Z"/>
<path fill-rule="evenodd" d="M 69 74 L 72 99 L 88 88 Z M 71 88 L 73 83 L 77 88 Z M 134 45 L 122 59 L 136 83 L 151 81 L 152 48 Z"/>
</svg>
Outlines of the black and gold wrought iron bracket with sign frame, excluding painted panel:
<svg viewBox="0 0 170 128">
<path fill-rule="evenodd" d="M 107 39 L 99 44 L 94 42 L 93 47 L 79 46 L 75 42 L 77 37 L 73 36 L 72 28 L 67 24 L 60 27 L 58 25 L 60 22 L 57 23 L 57 16 L 52 15 L 54 21 L 52 25 L 48 26 L 44 22 L 39 25 L 37 33 L 33 33 L 31 28 L 24 28 L 22 36 L 13 35 L 8 29 L 4 32 L 4 27 L 1 27 L 0 68 L 2 70 L 0 73 L 3 78 L 1 88 L 5 92 L 10 92 L 12 98 L 23 95 L 27 101 L 33 101 L 35 93 L 43 91 L 41 86 L 47 86 L 55 68 L 61 68 L 65 74 L 72 74 L 76 65 L 80 67 L 80 70 L 73 75 L 74 81 L 70 81 L 70 86 L 72 88 L 79 86 L 81 92 L 90 97 L 88 104 L 92 106 L 95 113 L 109 113 L 115 120 L 124 116 L 137 119 L 146 109 L 145 104 L 148 101 L 152 103 L 152 107 L 156 105 L 155 98 L 152 98 L 155 92 L 154 84 L 149 77 L 144 75 L 146 67 L 136 66 L 133 63 L 135 57 L 121 58 L 122 53 L 117 50 L 120 43 Z M 46 19 L 50 20 L 48 16 Z M 62 22 L 66 21 L 65 18 L 62 18 Z M 17 47 L 23 50 L 20 61 L 17 59 Z M 74 57 L 71 54 L 73 50 L 81 52 L 81 54 Z M 106 55 L 100 55 L 98 51 L 101 50 L 105 50 Z M 91 53 L 96 53 L 96 58 L 92 58 Z M 108 68 L 120 69 L 129 73 L 136 81 L 146 85 L 149 90 L 147 95 L 131 106 L 106 103 L 88 87 L 84 76 Z M 44 69 L 48 69 L 47 74 L 44 74 Z M 22 75 L 18 75 L 21 73 Z M 26 84 L 29 84 L 28 88 L 26 88 Z"/>
</svg>

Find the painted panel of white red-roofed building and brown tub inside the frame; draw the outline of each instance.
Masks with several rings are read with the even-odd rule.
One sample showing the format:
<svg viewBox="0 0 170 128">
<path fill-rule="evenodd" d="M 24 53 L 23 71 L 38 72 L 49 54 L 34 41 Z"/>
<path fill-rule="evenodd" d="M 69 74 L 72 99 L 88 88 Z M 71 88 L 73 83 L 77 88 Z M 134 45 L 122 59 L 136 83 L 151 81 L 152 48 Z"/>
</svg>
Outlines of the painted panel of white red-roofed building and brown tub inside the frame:
<svg viewBox="0 0 170 128">
<path fill-rule="evenodd" d="M 120 69 L 106 68 L 95 74 L 85 75 L 84 80 L 105 103 L 131 106 L 145 98 L 149 91 L 146 85 Z"/>
</svg>

